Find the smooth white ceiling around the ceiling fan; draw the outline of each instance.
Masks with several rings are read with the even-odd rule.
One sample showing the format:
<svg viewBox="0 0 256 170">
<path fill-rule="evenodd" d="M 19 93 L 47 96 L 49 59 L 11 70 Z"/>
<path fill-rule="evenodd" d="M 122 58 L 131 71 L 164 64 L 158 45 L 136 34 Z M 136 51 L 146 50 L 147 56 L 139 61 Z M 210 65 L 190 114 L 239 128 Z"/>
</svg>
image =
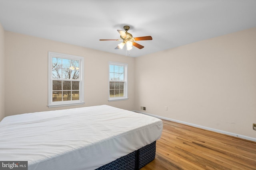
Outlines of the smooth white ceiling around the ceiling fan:
<svg viewBox="0 0 256 170">
<path fill-rule="evenodd" d="M 256 27 L 256 0 L 0 0 L 6 31 L 52 39 L 109 53 L 129 25 L 136 41 L 128 56 L 138 57 Z"/>
</svg>

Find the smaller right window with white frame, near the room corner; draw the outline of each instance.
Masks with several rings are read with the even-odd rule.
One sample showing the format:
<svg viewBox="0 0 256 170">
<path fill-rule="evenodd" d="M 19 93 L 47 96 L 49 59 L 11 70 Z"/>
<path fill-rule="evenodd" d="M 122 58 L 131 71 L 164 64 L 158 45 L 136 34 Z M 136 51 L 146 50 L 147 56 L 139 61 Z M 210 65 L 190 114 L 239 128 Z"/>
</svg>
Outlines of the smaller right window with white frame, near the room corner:
<svg viewBox="0 0 256 170">
<path fill-rule="evenodd" d="M 109 98 L 108 101 L 126 100 L 128 64 L 109 62 Z"/>
</svg>

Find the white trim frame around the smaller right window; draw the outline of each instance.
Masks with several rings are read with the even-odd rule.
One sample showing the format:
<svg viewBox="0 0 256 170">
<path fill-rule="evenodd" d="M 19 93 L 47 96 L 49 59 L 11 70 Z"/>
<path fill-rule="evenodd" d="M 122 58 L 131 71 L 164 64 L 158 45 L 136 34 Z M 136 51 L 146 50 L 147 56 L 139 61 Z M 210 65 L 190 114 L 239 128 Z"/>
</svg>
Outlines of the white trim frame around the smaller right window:
<svg viewBox="0 0 256 170">
<path fill-rule="evenodd" d="M 115 98 L 110 98 L 110 87 L 109 87 L 109 82 L 110 82 L 110 70 L 109 70 L 109 65 L 113 64 L 113 65 L 122 65 L 125 66 L 124 68 L 124 80 L 125 80 L 125 90 L 124 90 L 124 97 L 115 97 Z M 120 101 L 120 100 L 128 100 L 128 64 L 126 63 L 118 63 L 118 62 L 114 62 L 114 61 L 109 61 L 108 62 L 108 102 L 114 102 L 114 101 Z"/>
</svg>

